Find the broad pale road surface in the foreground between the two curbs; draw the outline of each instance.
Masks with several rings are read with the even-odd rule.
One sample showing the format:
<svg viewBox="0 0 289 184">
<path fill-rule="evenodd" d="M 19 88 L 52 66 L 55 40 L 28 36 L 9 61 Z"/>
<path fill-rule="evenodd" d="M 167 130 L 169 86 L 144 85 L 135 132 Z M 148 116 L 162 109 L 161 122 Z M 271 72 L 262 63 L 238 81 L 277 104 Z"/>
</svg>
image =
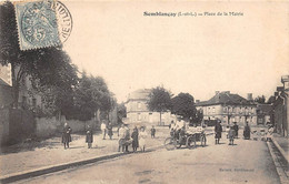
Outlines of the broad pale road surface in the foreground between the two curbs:
<svg viewBox="0 0 289 184">
<path fill-rule="evenodd" d="M 132 153 L 18 183 L 280 183 L 266 142 L 238 139 L 235 143 L 228 145 L 222 139 L 215 145 L 209 136 L 206 147 Z"/>
</svg>

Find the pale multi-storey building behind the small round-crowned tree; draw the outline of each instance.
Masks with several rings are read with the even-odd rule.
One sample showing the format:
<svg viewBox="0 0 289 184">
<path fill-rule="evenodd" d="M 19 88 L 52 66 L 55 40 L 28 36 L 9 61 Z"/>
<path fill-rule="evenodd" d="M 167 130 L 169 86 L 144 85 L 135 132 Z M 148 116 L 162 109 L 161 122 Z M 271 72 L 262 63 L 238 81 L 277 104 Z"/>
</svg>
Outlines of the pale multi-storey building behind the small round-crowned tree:
<svg viewBox="0 0 289 184">
<path fill-rule="evenodd" d="M 176 115 L 170 112 L 163 112 L 161 114 L 161 123 L 160 123 L 160 113 L 151 112 L 148 109 L 149 101 L 149 89 L 137 90 L 129 94 L 128 101 L 126 102 L 127 108 L 127 123 L 133 124 L 159 124 L 159 125 L 168 125 L 173 120 L 176 122 Z"/>
</svg>

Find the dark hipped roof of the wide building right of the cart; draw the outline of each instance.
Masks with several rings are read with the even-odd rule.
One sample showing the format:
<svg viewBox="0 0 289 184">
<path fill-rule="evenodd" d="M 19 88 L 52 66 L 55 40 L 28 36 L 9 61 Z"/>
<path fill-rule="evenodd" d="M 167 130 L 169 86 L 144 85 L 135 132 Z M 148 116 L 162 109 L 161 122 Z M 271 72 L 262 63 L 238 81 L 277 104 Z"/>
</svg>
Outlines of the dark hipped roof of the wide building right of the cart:
<svg viewBox="0 0 289 184">
<path fill-rule="evenodd" d="M 253 104 L 252 102 L 246 100 L 245 98 L 240 96 L 239 94 L 231 94 L 229 92 L 220 92 L 212 96 L 208 101 L 202 101 L 197 103 L 197 106 L 207 106 L 207 105 L 213 105 L 213 104 L 242 104 L 242 105 L 249 105 Z"/>
</svg>

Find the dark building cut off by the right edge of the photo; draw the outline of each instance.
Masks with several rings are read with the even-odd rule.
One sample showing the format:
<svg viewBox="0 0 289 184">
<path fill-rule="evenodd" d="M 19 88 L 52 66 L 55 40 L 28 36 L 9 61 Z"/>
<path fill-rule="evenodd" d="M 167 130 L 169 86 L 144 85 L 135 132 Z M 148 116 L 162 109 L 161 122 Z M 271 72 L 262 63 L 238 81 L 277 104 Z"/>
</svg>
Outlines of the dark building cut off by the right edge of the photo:
<svg viewBox="0 0 289 184">
<path fill-rule="evenodd" d="M 281 78 L 282 86 L 277 86 L 277 92 L 275 92 L 273 101 L 273 122 L 278 134 L 282 136 L 289 135 L 289 75 L 283 75 Z"/>
</svg>

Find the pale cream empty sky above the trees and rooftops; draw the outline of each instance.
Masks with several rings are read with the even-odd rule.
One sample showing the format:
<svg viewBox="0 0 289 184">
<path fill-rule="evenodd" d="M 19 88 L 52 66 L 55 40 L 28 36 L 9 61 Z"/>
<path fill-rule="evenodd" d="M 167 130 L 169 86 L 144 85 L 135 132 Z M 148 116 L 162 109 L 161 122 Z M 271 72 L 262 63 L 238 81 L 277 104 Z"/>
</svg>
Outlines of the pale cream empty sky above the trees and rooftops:
<svg viewBox="0 0 289 184">
<path fill-rule="evenodd" d="M 73 20 L 64 50 L 80 70 L 103 76 L 118 102 L 158 85 L 201 101 L 215 91 L 269 96 L 289 74 L 288 3 L 63 3 Z M 243 16 L 144 17 L 144 11 Z"/>
</svg>

